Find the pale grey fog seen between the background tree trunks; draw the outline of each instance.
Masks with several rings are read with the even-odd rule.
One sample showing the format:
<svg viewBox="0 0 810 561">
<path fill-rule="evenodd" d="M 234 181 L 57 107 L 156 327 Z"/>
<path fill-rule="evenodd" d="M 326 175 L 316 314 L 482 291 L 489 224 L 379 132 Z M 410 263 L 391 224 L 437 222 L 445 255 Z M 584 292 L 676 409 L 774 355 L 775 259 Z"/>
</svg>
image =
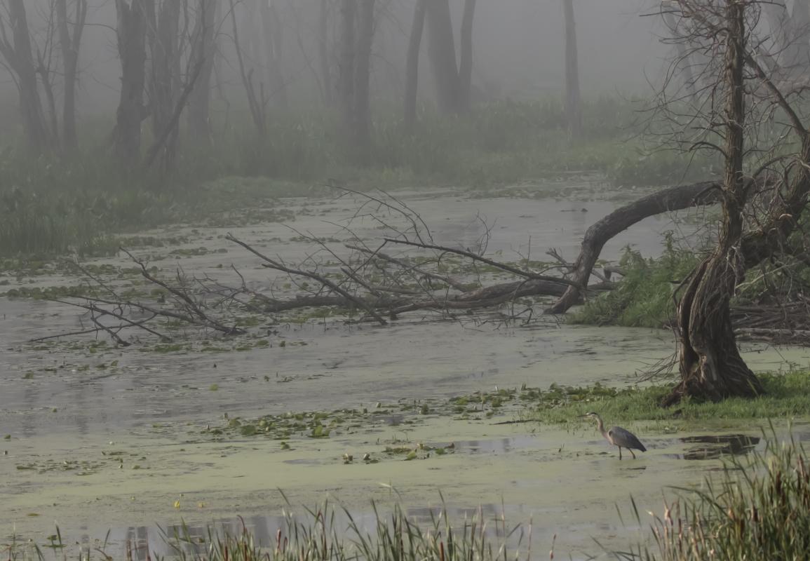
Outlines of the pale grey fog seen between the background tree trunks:
<svg viewBox="0 0 810 561">
<path fill-rule="evenodd" d="M 47 45 L 45 23 L 50 0 L 24 0 L 29 27 L 36 45 Z M 193 3 L 193 2 L 192 2 Z M 247 66 L 262 61 L 249 53 L 251 42 L 261 41 L 261 26 L 245 13 L 249 2 L 237 2 L 241 40 L 247 45 Z M 399 106 L 402 98 L 408 34 L 413 3 L 410 0 L 378 2 L 375 16 L 372 100 L 377 107 Z M 69 2 L 70 4 L 70 2 Z M 79 121 L 87 117 L 107 116 L 115 111 L 121 81 L 121 62 L 116 43 L 116 9 L 112 0 L 88 0 L 87 27 L 79 53 L 77 112 Z M 227 4 L 227 2 L 224 2 Z M 318 79 L 319 0 L 275 0 L 282 26 L 283 45 L 280 62 L 283 79 L 294 100 L 292 108 L 317 107 L 321 102 Z M 455 41 L 458 49 L 458 25 L 463 0 L 450 2 Z M 663 45 L 664 32 L 659 19 L 642 17 L 654 9 L 652 0 L 578 0 L 577 18 L 579 66 L 583 97 L 606 92 L 622 95 L 648 95 L 650 81 L 660 76 L 671 46 Z M 335 8 L 336 10 L 336 8 Z M 245 108 L 237 62 L 233 55 L 231 23 L 220 10 L 217 42 L 220 61 L 221 91 L 227 92 L 233 108 Z M 565 25 L 562 3 L 557 0 L 482 0 L 475 11 L 473 30 L 474 99 L 528 100 L 539 96 L 560 96 L 565 80 Z M 336 19 L 336 17 L 335 17 Z M 338 49 L 336 23 L 330 23 L 330 66 L 336 72 Z M 427 41 L 422 41 L 420 99 L 432 102 L 431 74 L 424 56 Z M 57 55 L 54 53 L 54 57 Z M 56 70 L 58 74 L 58 69 Z M 2 125 L 19 121 L 17 91 L 7 67 L 0 69 L 0 108 Z M 265 77 L 266 80 L 266 77 Z M 58 75 L 54 77 L 60 88 Z"/>
</svg>

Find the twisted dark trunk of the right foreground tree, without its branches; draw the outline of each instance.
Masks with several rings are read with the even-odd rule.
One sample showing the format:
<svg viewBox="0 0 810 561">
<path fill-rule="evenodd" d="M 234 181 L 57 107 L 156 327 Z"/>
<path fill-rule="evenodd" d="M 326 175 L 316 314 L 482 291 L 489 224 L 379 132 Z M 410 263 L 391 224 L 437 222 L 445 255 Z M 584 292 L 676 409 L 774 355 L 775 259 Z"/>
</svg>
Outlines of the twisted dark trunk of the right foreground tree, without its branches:
<svg viewBox="0 0 810 561">
<path fill-rule="evenodd" d="M 665 405 L 681 397 L 752 397 L 762 385 L 737 350 L 731 326 L 731 297 L 744 275 L 740 246 L 743 235 L 745 181 L 745 5 L 727 2 L 725 40 L 726 164 L 723 178 L 723 225 L 717 248 L 693 271 L 678 306 L 681 381 Z"/>
</svg>

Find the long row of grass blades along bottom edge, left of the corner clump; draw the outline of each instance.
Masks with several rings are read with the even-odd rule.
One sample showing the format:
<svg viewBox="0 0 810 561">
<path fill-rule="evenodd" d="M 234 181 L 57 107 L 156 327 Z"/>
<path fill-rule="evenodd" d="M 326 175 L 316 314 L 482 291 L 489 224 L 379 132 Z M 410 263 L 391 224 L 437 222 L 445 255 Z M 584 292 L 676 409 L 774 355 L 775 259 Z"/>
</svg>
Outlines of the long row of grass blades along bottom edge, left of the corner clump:
<svg viewBox="0 0 810 561">
<path fill-rule="evenodd" d="M 284 512 L 283 527 L 270 546 L 259 544 L 254 534 L 241 521 L 242 529 L 233 533 L 217 531 L 210 526 L 204 537 L 193 534 L 188 526 L 173 532 L 161 530 L 164 542 L 172 553 L 169 559 L 178 561 L 496 561 L 497 559 L 531 558 L 531 526 L 509 528 L 501 517 L 489 527 L 481 510 L 463 521 L 451 521 L 445 508 L 431 510 L 430 521 L 418 525 L 409 519 L 403 507 L 394 506 L 393 512 L 383 513 L 372 503 L 374 523 L 368 530 L 356 521 L 345 508 L 335 508 L 328 502 L 321 508 L 307 509 L 305 516 Z M 338 516 L 343 512 L 343 517 Z M 341 521 L 339 521 L 339 519 Z M 241 520 L 241 519 L 240 519 Z M 524 533 L 528 531 L 528 533 Z M 113 561 L 107 551 L 105 539 L 100 547 L 83 548 L 75 556 L 78 561 Z M 55 559 L 65 549 L 62 534 L 49 538 L 49 544 L 12 543 L 6 551 L 8 561 L 45 561 L 52 557 L 45 550 L 52 549 Z M 68 559 L 62 555 L 62 559 Z M 150 551 L 126 542 L 126 561 L 160 557 Z"/>
</svg>

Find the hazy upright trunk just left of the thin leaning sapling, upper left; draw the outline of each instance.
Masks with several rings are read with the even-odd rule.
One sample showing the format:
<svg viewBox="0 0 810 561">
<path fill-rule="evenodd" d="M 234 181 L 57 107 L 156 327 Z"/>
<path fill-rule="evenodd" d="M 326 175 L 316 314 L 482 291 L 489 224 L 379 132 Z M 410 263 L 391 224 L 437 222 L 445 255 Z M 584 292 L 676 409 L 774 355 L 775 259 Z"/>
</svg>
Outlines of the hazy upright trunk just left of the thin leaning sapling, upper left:
<svg viewBox="0 0 810 561">
<path fill-rule="evenodd" d="M 188 125 L 191 137 L 196 142 L 211 145 L 211 74 L 214 70 L 216 52 L 216 18 L 217 0 L 202 0 L 197 21 L 192 34 L 192 51 L 190 66 L 194 68 L 202 63 L 197 84 L 189 96 Z"/>
</svg>

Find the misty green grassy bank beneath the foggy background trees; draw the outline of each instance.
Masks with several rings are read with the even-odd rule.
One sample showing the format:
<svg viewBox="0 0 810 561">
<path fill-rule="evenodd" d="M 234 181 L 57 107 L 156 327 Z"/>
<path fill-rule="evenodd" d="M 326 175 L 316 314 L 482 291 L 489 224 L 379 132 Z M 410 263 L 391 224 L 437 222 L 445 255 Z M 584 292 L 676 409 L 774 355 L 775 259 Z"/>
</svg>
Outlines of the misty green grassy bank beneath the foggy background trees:
<svg viewBox="0 0 810 561">
<path fill-rule="evenodd" d="M 380 113 L 371 161 L 353 164 L 330 113 L 277 116 L 258 142 L 249 123 L 220 130 L 213 147 L 181 142 L 170 176 L 123 170 L 109 154 L 106 122 L 85 127 L 82 148 L 32 159 L 0 152 L 0 253 L 104 253 L 106 236 L 255 205 L 257 199 L 307 196 L 336 180 L 360 189 L 455 185 L 489 191 L 560 173 L 598 172 L 616 186 L 660 185 L 706 176 L 667 152 L 645 155 L 634 135 L 637 104 L 590 100 L 582 142 L 566 140 L 556 100 L 480 106 L 463 116 L 424 113 L 411 133 L 399 115 Z M 87 130 L 89 129 L 89 132 Z M 253 181 L 245 178 L 256 178 Z"/>
</svg>

